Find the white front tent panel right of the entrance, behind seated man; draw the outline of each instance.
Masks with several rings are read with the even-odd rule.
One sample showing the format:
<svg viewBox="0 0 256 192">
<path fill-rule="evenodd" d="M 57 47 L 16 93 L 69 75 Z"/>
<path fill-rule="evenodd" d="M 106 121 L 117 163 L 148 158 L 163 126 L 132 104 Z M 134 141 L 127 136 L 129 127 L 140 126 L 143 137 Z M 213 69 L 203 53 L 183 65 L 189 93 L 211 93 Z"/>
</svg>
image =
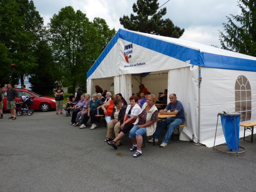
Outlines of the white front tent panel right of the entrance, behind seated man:
<svg viewBox="0 0 256 192">
<path fill-rule="evenodd" d="M 177 100 L 181 101 L 187 127 L 180 133 L 180 140 L 192 140 L 197 143 L 199 139 L 199 66 L 172 69 L 168 74 L 168 94 L 175 93 Z M 168 99 L 168 102 L 169 99 Z"/>
</svg>

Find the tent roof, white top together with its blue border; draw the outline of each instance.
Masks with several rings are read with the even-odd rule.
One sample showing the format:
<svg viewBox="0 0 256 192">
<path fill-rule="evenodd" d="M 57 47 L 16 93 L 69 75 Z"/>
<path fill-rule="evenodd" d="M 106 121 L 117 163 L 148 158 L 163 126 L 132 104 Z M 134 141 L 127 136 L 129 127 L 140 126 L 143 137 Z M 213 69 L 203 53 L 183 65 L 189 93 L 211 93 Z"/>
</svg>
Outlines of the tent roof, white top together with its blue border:
<svg viewBox="0 0 256 192">
<path fill-rule="evenodd" d="M 119 38 L 166 56 L 187 62 L 191 65 L 240 71 L 256 71 L 256 57 L 199 44 L 185 39 L 163 37 L 119 29 L 87 72 L 87 78 L 89 78 L 101 64 L 113 46 L 118 42 Z"/>
</svg>

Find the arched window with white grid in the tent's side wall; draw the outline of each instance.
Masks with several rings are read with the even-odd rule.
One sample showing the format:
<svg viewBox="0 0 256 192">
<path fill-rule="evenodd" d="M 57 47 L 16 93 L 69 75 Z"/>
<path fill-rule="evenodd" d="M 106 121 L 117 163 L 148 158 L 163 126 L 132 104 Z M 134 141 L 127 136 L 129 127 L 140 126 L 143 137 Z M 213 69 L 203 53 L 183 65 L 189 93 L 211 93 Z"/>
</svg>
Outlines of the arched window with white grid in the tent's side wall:
<svg viewBox="0 0 256 192">
<path fill-rule="evenodd" d="M 235 105 L 236 112 L 241 113 L 240 121 L 251 120 L 252 114 L 252 93 L 248 79 L 240 75 L 235 84 Z"/>
</svg>

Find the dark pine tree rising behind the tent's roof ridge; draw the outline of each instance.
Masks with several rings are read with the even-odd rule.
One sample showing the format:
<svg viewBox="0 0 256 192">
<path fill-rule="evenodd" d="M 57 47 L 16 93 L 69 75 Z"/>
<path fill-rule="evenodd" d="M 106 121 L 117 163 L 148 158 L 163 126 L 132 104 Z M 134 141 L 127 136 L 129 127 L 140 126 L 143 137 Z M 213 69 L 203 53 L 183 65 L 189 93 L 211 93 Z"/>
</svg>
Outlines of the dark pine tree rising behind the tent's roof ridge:
<svg viewBox="0 0 256 192">
<path fill-rule="evenodd" d="M 184 33 L 184 29 L 174 26 L 172 20 L 162 19 L 166 14 L 166 8 L 160 9 L 158 12 L 158 0 L 137 0 L 137 4 L 133 3 L 132 10 L 137 15 L 124 15 L 120 18 L 121 25 L 125 29 L 162 35 L 166 37 L 179 38 Z"/>
</svg>

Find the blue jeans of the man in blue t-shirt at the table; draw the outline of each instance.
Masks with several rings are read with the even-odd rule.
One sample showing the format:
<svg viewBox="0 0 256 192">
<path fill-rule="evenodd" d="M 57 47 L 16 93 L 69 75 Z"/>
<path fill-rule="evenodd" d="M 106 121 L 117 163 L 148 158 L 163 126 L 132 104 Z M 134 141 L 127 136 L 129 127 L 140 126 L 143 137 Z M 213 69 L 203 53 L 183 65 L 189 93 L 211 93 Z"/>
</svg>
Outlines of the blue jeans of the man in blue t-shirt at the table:
<svg viewBox="0 0 256 192">
<path fill-rule="evenodd" d="M 163 143 L 168 143 L 170 136 L 173 133 L 173 130 L 180 124 L 184 123 L 184 120 L 182 120 L 181 118 L 173 118 L 173 117 L 169 117 L 161 122 L 159 122 L 157 124 L 157 128 L 155 130 L 155 139 L 159 138 L 159 135 L 161 134 L 161 132 L 163 131 L 163 129 L 166 127 L 167 125 L 167 131 L 165 133 L 165 136 L 163 137 L 162 142 Z"/>
</svg>

